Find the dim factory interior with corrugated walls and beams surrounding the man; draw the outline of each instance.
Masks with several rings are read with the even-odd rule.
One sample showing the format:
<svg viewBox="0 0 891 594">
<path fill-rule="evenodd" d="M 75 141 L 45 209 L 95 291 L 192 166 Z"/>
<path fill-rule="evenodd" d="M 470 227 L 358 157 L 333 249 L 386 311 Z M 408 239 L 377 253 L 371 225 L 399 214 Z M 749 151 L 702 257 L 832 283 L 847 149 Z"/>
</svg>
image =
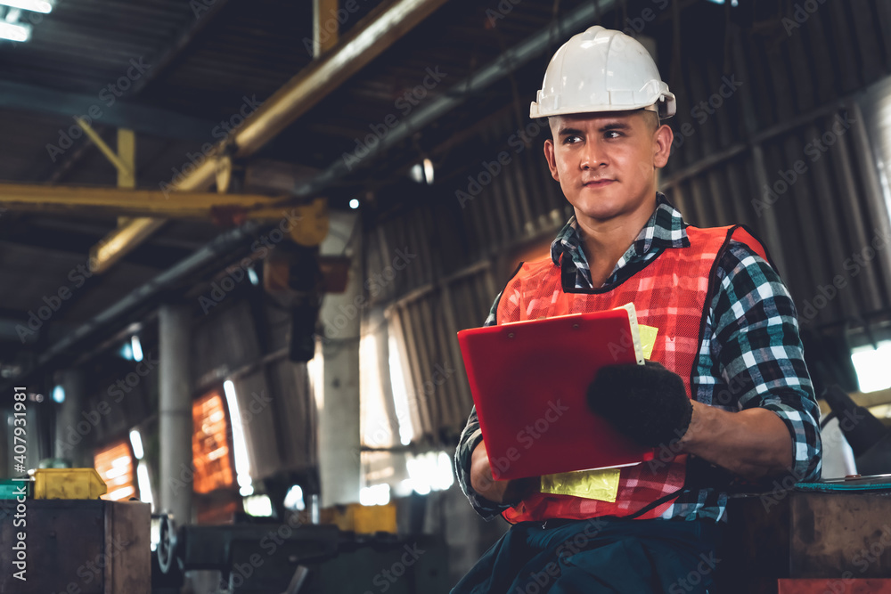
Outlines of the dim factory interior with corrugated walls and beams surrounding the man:
<svg viewBox="0 0 891 594">
<path fill-rule="evenodd" d="M 652 591 L 891 592 L 887 0 L 0 0 L 0 592 L 452 590 L 511 529 L 457 474 L 458 332 L 574 215 L 529 105 L 594 25 L 820 410 L 818 486 L 732 492 Z"/>
</svg>

